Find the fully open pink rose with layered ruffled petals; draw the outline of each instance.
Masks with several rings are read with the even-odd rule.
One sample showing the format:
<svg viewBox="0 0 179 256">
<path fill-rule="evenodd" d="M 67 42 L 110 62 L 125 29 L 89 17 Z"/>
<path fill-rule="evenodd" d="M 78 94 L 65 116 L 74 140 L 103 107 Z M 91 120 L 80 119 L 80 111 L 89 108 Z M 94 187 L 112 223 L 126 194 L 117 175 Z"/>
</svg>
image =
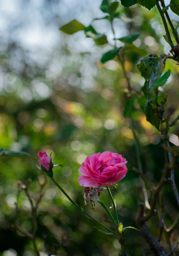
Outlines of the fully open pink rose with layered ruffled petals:
<svg viewBox="0 0 179 256">
<path fill-rule="evenodd" d="M 89 155 L 79 169 L 78 182 L 84 187 L 112 186 L 126 175 L 126 163 L 121 155 L 109 151 Z"/>
</svg>

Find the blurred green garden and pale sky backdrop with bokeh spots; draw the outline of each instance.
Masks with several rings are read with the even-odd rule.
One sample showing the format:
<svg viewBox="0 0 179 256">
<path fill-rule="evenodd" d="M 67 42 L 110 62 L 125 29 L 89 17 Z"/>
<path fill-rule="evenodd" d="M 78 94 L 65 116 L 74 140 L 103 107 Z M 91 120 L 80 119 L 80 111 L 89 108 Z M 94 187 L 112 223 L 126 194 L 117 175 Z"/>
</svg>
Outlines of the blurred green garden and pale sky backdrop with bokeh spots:
<svg viewBox="0 0 179 256">
<path fill-rule="evenodd" d="M 120 1 L 119 1 L 120 2 Z M 169 1 L 165 1 L 166 5 Z M 1 0 L 0 1 L 0 147 L 30 153 L 38 163 L 37 153 L 46 149 L 52 152 L 56 167 L 54 177 L 68 194 L 85 210 L 105 223 L 105 212 L 96 203 L 84 206 L 83 187 L 78 184 L 78 169 L 84 159 L 105 150 L 122 154 L 128 161 L 128 173 L 118 182 L 113 194 L 116 197 L 119 220 L 123 226 L 136 227 L 138 200 L 143 200 L 139 177 L 131 170 L 137 167 L 136 151 L 130 130 L 130 120 L 123 118 L 126 80 L 116 60 L 100 62 L 103 53 L 114 45 L 113 34 L 107 20 L 95 20 L 105 14 L 100 10 L 101 0 Z M 164 27 L 157 8 L 150 11 L 139 5 L 125 8 L 119 5 L 120 18 L 114 20 L 116 37 L 141 31 L 141 36 L 126 50 L 125 68 L 137 94 L 143 94 L 137 64 L 150 53 L 168 54 L 169 46 L 163 35 Z M 179 23 L 176 14 L 169 10 L 174 25 Z M 91 24 L 108 42 L 97 46 L 83 31 L 66 35 L 59 28 L 77 19 L 84 25 Z M 122 46 L 117 42 L 117 46 Z M 171 76 L 161 96 L 168 92 L 167 106 L 178 115 L 179 66 L 167 60 L 166 70 Z M 163 141 L 160 132 L 146 121 L 138 100 L 133 111 L 135 129 L 141 149 L 144 174 L 157 184 L 164 167 Z M 179 124 L 170 130 L 170 143 L 179 145 Z M 33 256 L 32 242 L 11 229 L 15 217 L 17 181 L 32 179 L 29 186 L 32 198 L 38 195 L 38 169 L 32 159 L 0 157 L 0 255 Z M 176 172 L 176 183 L 179 175 Z M 72 230 L 68 241 L 59 249 L 61 256 L 117 256 L 120 245 L 113 236 L 99 233 L 92 220 L 82 212 L 72 209 L 71 203 L 49 183 L 38 209 L 38 248 L 40 255 L 47 255 L 42 235 L 47 235 L 49 245 L 58 243 Z M 178 207 L 169 183 L 164 186 L 165 222 L 170 226 Z M 148 195 L 151 196 L 148 189 Z M 111 206 L 107 192 L 102 200 Z M 32 232 L 30 205 L 22 192 L 19 198 L 19 224 Z M 110 227 L 106 222 L 105 225 Z M 158 217 L 148 223 L 151 232 L 158 236 Z M 100 227 L 98 227 L 100 228 Z M 172 235 L 178 239 L 179 226 Z M 127 230 L 125 241 L 130 255 L 151 255 L 140 232 Z M 168 247 L 163 240 L 161 243 Z M 51 247 L 50 247 L 51 248 Z"/>
</svg>

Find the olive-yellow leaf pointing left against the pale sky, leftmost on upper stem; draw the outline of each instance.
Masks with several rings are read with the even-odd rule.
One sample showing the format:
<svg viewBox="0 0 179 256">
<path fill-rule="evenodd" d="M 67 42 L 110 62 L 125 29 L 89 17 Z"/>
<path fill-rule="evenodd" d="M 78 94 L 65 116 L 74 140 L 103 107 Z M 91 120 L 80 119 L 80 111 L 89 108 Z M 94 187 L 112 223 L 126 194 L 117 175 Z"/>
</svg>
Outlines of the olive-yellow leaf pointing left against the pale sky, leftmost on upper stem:
<svg viewBox="0 0 179 256">
<path fill-rule="evenodd" d="M 68 24 L 65 24 L 60 28 L 61 31 L 69 35 L 72 35 L 84 29 L 85 29 L 85 26 L 76 19 L 70 21 Z"/>
</svg>

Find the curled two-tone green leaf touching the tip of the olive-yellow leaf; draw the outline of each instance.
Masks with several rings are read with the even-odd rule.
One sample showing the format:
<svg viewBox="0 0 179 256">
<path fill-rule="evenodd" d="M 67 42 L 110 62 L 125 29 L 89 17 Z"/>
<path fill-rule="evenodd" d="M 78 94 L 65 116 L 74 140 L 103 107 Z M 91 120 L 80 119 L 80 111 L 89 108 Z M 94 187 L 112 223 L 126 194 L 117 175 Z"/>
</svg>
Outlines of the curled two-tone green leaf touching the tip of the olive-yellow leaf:
<svg viewBox="0 0 179 256">
<path fill-rule="evenodd" d="M 93 26 L 89 25 L 84 29 L 86 37 L 92 38 L 97 45 L 107 44 L 107 37 L 104 34 L 98 34 Z"/>
</svg>

